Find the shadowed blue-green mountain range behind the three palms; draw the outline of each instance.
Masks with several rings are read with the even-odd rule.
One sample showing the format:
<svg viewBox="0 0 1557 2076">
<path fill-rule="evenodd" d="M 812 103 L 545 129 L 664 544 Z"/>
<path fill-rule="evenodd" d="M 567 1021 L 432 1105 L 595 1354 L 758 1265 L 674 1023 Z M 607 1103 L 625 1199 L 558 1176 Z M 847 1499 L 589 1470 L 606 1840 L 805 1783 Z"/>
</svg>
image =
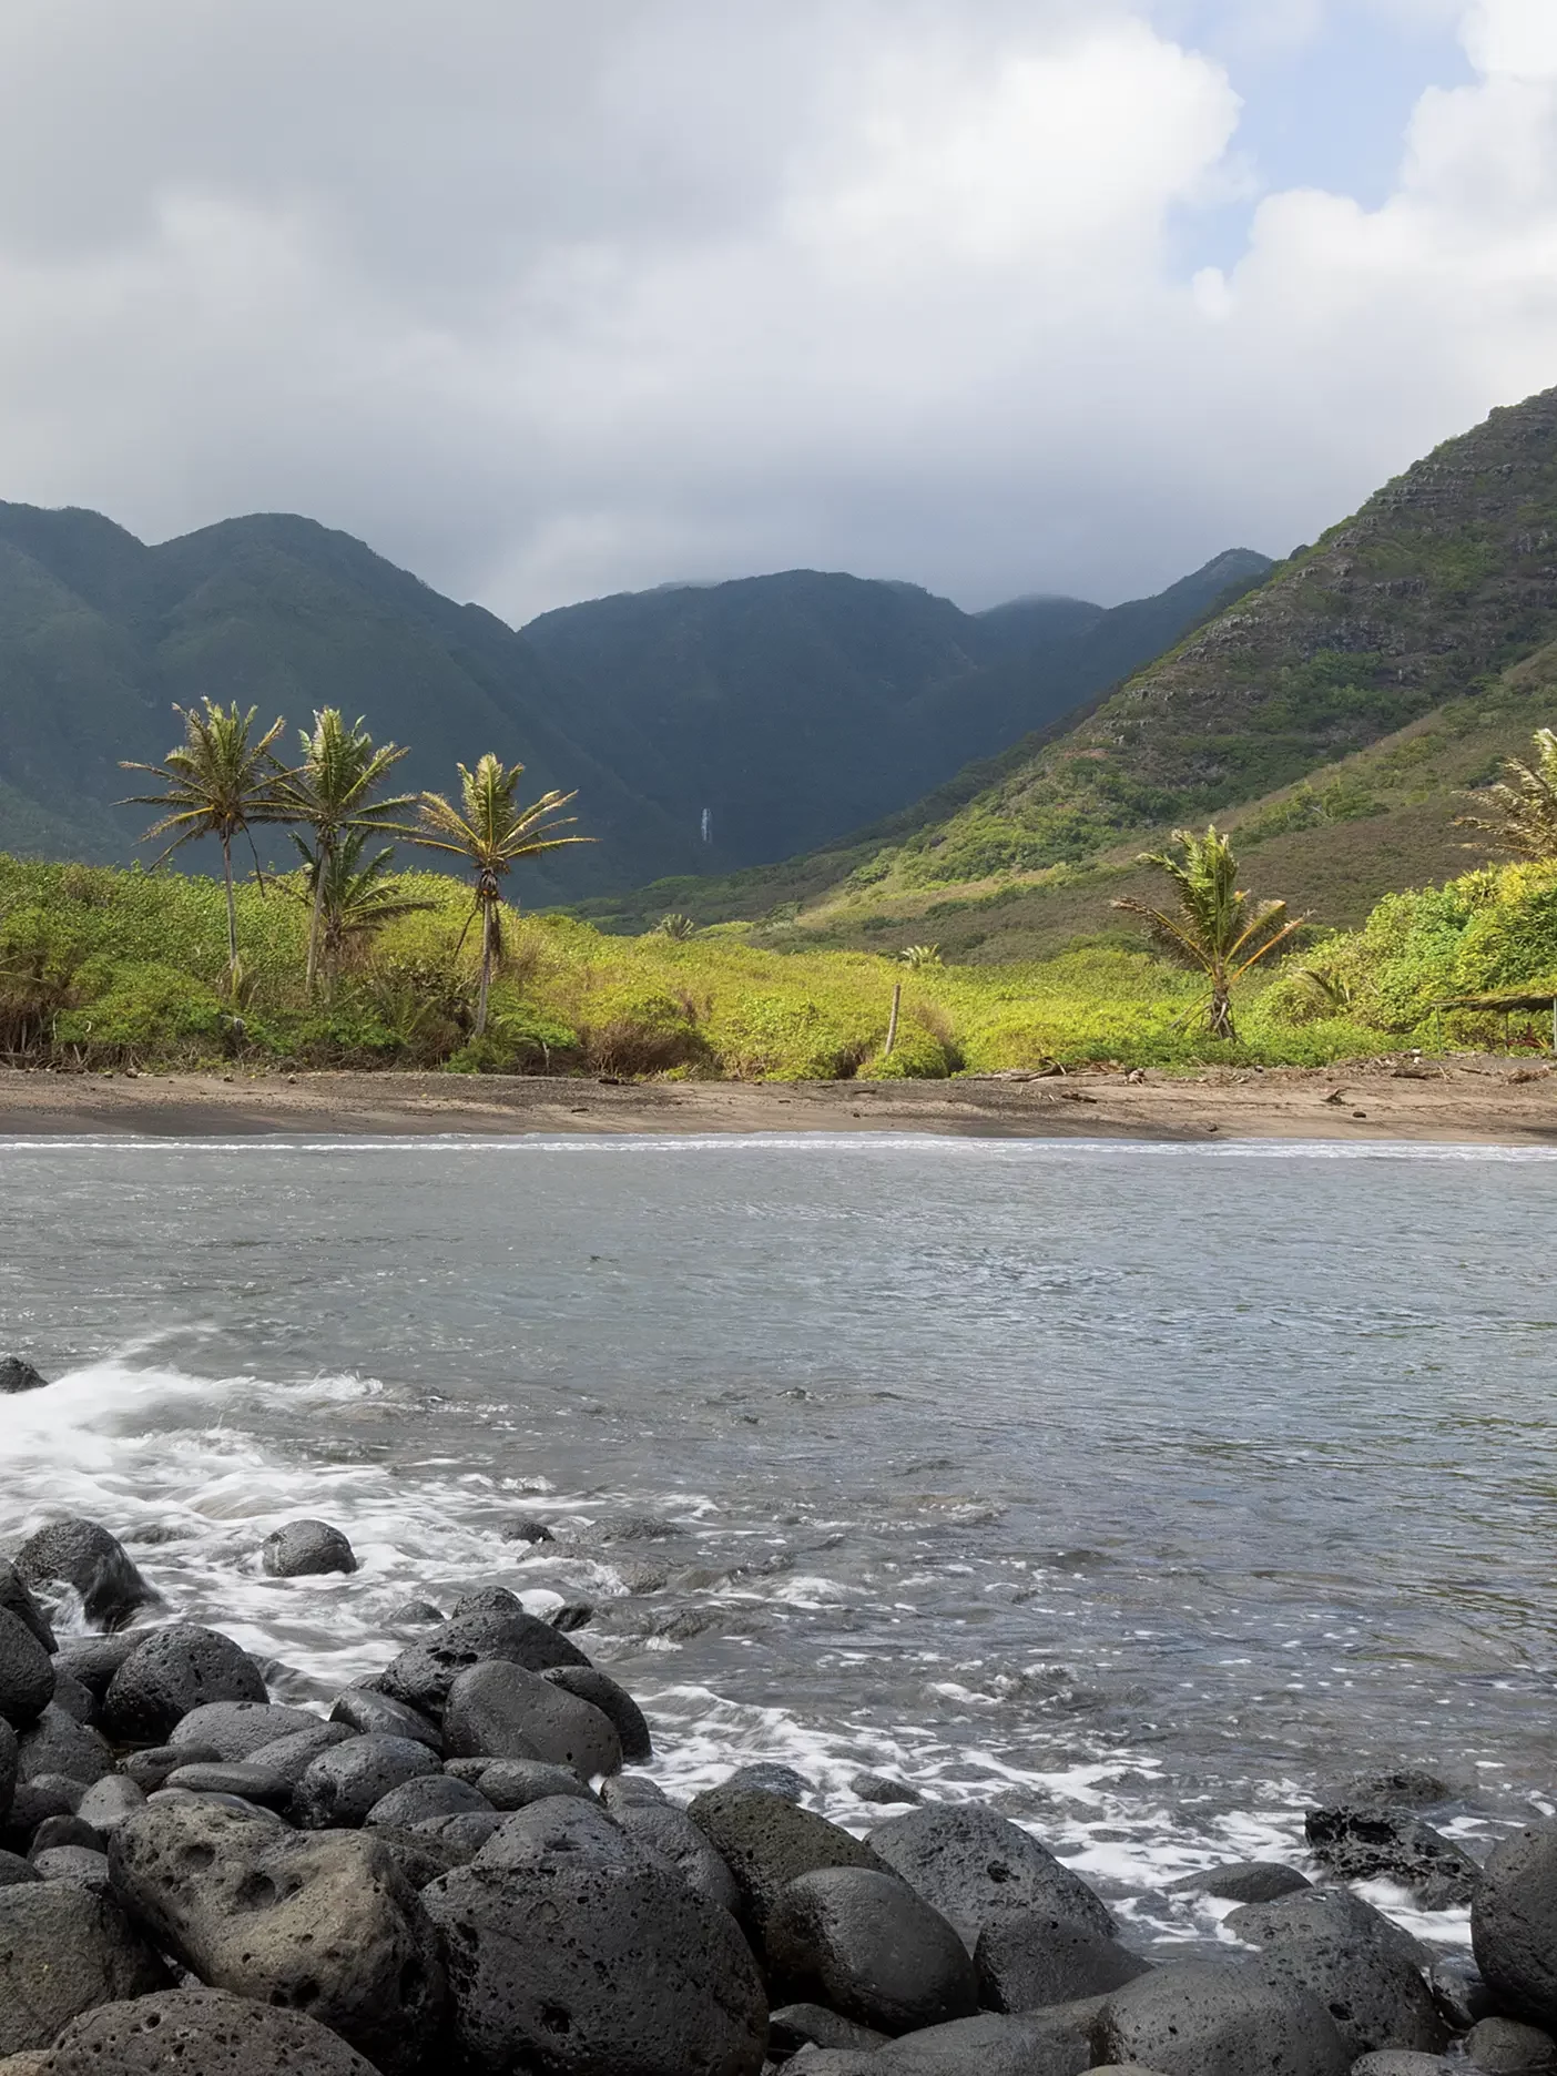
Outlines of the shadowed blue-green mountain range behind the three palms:
<svg viewBox="0 0 1557 2076">
<path fill-rule="evenodd" d="M 596 600 L 515 633 L 309 519 L 147 548 L 98 513 L 0 504 L 0 847 L 127 859 L 141 824 L 118 762 L 160 758 L 170 704 L 212 693 L 291 727 L 367 712 L 409 745 L 409 791 L 444 785 L 471 743 L 521 756 L 538 791 L 577 789 L 596 841 L 540 864 L 542 899 L 727 870 L 901 810 L 1264 567 L 1223 556 L 1113 612 L 992 614 L 791 571 Z"/>
</svg>

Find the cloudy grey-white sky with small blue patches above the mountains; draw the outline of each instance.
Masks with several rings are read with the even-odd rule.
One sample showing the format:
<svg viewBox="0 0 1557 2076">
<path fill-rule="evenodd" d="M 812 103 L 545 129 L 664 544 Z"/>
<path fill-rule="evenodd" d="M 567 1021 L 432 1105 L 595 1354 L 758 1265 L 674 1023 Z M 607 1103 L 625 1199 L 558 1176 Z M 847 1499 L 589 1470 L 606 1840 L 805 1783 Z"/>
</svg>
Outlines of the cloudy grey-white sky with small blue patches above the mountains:
<svg viewBox="0 0 1557 2076">
<path fill-rule="evenodd" d="M 1557 0 L 6 0 L 0 496 L 509 621 L 1281 554 L 1557 384 Z"/>
</svg>

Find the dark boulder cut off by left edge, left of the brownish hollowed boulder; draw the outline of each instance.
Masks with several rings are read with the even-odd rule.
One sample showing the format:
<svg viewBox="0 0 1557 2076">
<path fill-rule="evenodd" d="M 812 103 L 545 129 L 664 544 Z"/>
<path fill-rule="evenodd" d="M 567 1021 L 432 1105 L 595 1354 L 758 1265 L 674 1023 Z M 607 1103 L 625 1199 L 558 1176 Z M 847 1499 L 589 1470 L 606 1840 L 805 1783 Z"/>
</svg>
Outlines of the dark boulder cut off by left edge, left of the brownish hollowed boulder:
<svg viewBox="0 0 1557 2076">
<path fill-rule="evenodd" d="M 48 2047 L 81 2012 L 166 1989 L 118 1904 L 73 1881 L 0 1889 L 0 2055 Z"/>
</svg>

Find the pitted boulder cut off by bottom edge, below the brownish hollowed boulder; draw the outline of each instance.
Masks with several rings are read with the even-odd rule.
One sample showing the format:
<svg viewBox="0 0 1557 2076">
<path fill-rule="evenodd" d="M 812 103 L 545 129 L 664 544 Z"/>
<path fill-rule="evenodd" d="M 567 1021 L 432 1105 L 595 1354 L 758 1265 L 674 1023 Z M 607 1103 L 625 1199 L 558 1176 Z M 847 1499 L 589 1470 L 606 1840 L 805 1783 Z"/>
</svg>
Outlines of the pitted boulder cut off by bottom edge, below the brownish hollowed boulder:
<svg viewBox="0 0 1557 2076">
<path fill-rule="evenodd" d="M 48 2076 L 374 2076 L 372 2061 L 305 2012 L 220 1989 L 164 1989 L 73 2020 Z"/>
</svg>

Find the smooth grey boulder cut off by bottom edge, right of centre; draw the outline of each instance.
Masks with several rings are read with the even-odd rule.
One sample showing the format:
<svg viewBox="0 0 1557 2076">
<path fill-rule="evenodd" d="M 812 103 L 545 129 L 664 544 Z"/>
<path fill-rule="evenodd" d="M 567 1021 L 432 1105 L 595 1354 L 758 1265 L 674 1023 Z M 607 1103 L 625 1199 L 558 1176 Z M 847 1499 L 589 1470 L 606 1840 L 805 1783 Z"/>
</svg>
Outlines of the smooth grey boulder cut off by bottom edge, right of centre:
<svg viewBox="0 0 1557 2076">
<path fill-rule="evenodd" d="M 1127 1983 L 1102 2012 L 1094 2051 L 1163 2076 L 1347 2076 L 1354 2061 L 1312 1991 L 1221 1958 Z"/>
</svg>

